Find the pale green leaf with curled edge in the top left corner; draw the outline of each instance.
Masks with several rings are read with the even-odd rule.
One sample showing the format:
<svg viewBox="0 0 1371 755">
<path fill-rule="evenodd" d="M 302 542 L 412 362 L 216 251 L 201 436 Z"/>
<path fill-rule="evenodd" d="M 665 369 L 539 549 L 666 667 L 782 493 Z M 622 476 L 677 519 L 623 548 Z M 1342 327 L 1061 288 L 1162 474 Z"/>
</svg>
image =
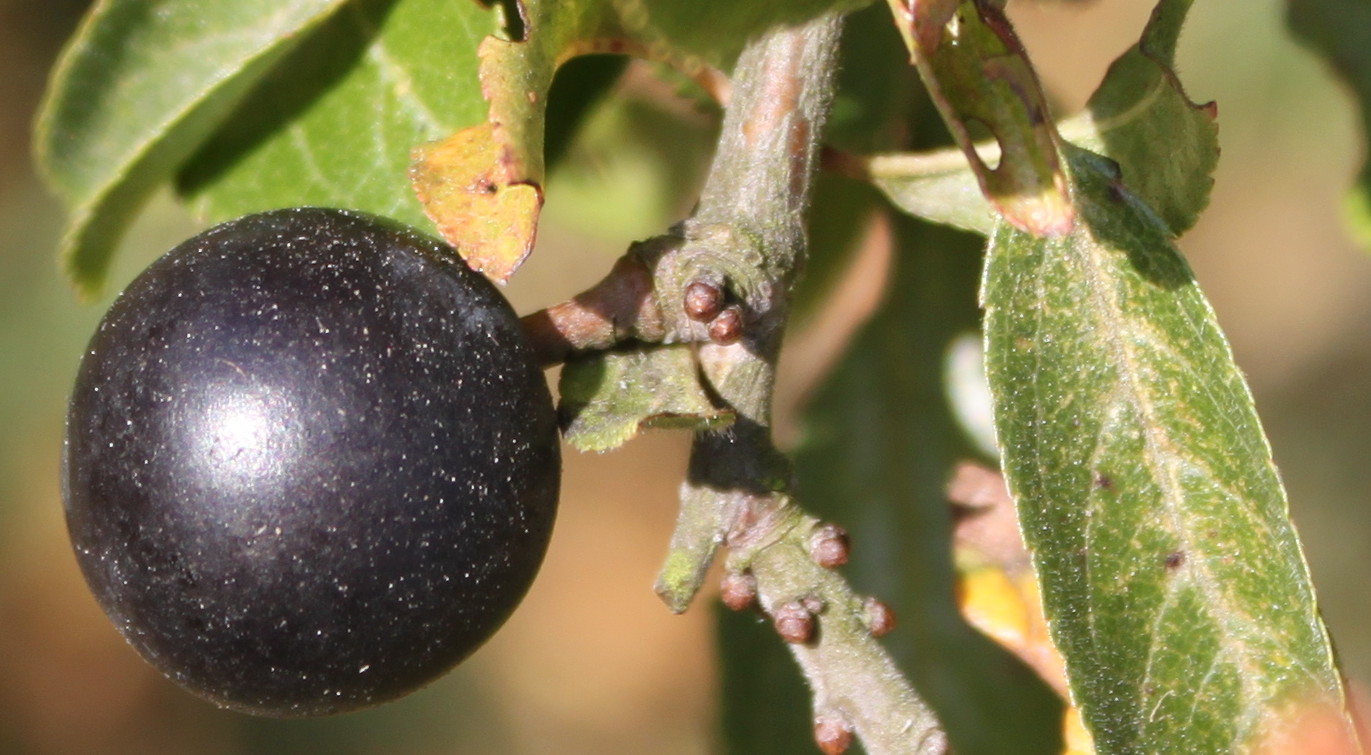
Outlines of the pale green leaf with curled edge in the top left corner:
<svg viewBox="0 0 1371 755">
<path fill-rule="evenodd" d="M 100 3 L 52 75 L 38 166 L 71 210 L 60 255 L 93 295 L 144 200 L 341 0 Z"/>
</svg>

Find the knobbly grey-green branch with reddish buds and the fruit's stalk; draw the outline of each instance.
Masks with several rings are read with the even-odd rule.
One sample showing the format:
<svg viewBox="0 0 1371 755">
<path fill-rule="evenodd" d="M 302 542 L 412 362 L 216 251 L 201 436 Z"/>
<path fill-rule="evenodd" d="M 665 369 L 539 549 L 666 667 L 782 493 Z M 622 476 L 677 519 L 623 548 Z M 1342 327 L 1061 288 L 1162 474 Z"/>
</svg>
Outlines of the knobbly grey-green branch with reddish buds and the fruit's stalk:
<svg viewBox="0 0 1371 755">
<path fill-rule="evenodd" d="M 772 440 L 776 359 L 805 260 L 840 30 L 840 16 L 825 15 L 751 41 L 694 216 L 524 323 L 547 364 L 624 341 L 698 344 L 701 380 L 735 419 L 695 433 L 658 595 L 684 611 L 727 549 L 724 602 L 772 618 L 813 691 L 824 752 L 856 736 L 872 755 L 941 755 L 936 717 L 877 641 L 888 610 L 834 570 L 845 541 L 794 502 L 790 460 Z"/>
</svg>

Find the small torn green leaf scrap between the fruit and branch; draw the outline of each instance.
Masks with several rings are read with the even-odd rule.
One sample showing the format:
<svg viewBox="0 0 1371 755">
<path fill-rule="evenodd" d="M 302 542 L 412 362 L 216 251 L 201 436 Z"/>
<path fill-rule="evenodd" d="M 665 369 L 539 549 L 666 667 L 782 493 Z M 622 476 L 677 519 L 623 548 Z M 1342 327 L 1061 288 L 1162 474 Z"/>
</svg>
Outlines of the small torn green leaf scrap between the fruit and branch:
<svg viewBox="0 0 1371 755">
<path fill-rule="evenodd" d="M 647 428 L 703 430 L 732 422 L 699 384 L 692 347 L 610 351 L 562 367 L 562 437 L 580 451 L 610 451 Z"/>
</svg>

